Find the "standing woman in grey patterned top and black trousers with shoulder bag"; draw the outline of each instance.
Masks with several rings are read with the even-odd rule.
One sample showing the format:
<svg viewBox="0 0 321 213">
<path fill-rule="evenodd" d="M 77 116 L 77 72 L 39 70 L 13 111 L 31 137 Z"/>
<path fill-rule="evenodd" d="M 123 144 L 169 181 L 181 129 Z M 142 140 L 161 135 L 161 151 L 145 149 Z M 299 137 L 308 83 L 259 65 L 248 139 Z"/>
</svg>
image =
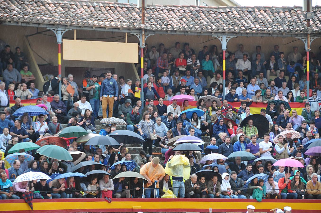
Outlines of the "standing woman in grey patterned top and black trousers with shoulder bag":
<svg viewBox="0 0 321 213">
<path fill-rule="evenodd" d="M 143 150 L 152 155 L 152 145 L 153 141 L 151 140 L 151 134 L 156 135 L 155 123 L 150 119 L 149 113 L 144 112 L 142 116 L 142 120 L 138 124 L 138 131 L 145 138 L 145 142 L 143 143 Z"/>
</svg>

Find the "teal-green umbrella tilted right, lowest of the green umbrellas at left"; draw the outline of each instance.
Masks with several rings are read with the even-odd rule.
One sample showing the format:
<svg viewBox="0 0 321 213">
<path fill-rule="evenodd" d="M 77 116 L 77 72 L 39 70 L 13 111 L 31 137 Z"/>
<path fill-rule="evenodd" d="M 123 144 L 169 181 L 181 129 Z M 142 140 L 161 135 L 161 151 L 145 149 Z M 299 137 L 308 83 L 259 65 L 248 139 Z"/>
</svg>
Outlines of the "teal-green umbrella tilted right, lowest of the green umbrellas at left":
<svg viewBox="0 0 321 213">
<path fill-rule="evenodd" d="M 73 160 L 73 157 L 71 157 L 66 149 L 56 145 L 45 145 L 40 147 L 36 152 L 38 152 L 39 155 L 44 155 L 48 158 L 55 158 L 57 160 Z"/>
</svg>

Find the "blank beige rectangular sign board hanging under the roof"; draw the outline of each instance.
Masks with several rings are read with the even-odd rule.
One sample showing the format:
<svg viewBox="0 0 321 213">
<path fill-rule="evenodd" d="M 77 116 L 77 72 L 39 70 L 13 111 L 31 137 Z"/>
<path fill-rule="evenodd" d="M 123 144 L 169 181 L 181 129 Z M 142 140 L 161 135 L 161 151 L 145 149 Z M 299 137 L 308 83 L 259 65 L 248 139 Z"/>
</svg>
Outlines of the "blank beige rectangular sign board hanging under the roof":
<svg viewBox="0 0 321 213">
<path fill-rule="evenodd" d="M 138 63 L 138 44 L 63 39 L 63 59 Z"/>
</svg>

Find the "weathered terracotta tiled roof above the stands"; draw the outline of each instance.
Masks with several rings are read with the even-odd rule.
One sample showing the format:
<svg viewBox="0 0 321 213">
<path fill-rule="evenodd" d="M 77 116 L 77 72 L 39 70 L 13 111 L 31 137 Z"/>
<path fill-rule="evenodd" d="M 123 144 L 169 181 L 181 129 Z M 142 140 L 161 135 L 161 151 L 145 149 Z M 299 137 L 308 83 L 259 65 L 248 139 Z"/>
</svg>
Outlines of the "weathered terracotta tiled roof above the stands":
<svg viewBox="0 0 321 213">
<path fill-rule="evenodd" d="M 321 7 L 310 20 L 321 32 Z M 0 0 L 0 21 L 197 32 L 306 33 L 302 7 L 148 5 L 145 25 L 133 4 L 101 1 Z"/>
</svg>

